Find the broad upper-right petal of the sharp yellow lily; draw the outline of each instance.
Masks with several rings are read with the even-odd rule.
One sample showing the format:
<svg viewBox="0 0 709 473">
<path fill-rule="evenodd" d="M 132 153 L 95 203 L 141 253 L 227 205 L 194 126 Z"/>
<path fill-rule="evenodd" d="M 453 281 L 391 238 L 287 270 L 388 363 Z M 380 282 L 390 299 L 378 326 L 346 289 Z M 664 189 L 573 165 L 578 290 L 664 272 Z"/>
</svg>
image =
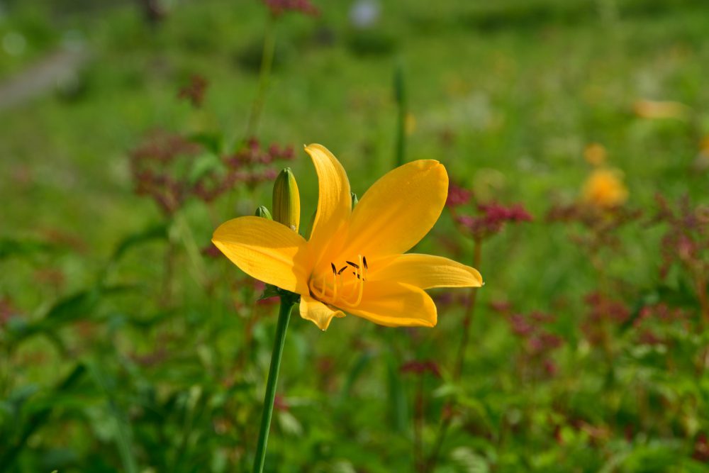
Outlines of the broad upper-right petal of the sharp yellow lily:
<svg viewBox="0 0 709 473">
<path fill-rule="evenodd" d="M 352 211 L 342 254 L 368 259 L 406 252 L 432 228 L 448 194 L 440 162 L 410 162 L 381 177 Z"/>
</svg>

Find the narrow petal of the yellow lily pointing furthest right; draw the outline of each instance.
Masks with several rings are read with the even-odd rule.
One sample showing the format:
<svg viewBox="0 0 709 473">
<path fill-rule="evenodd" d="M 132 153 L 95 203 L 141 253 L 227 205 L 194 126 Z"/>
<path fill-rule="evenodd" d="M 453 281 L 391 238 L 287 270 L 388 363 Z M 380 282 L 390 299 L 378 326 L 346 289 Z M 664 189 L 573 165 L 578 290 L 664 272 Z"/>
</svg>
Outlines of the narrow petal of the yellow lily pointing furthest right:
<svg viewBox="0 0 709 473">
<path fill-rule="evenodd" d="M 477 269 L 442 256 L 399 255 L 381 269 L 376 269 L 376 266 L 373 269 L 367 275 L 369 281 L 396 281 L 420 289 L 483 285 L 483 278 Z"/>
</svg>

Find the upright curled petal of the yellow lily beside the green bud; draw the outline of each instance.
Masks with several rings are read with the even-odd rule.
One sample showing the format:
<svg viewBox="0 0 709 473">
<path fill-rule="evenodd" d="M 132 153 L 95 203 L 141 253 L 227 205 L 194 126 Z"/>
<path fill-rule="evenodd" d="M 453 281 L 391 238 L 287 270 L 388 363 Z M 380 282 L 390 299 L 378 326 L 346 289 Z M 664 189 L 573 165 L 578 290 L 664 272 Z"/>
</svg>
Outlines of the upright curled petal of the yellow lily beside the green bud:
<svg viewBox="0 0 709 473">
<path fill-rule="evenodd" d="M 352 212 L 350 181 L 337 158 L 323 145 L 308 145 L 306 152 L 311 156 L 318 173 L 318 211 L 313 221 L 309 246 L 322 254 L 328 243 L 340 231 Z M 319 258 L 316 256 L 315 260 Z"/>
</svg>

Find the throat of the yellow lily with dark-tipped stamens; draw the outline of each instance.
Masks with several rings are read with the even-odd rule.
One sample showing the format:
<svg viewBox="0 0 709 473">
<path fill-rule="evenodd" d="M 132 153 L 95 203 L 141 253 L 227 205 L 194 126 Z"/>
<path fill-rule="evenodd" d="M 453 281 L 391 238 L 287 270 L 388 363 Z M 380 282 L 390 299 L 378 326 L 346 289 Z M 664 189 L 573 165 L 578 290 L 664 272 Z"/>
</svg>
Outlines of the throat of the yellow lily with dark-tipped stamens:
<svg viewBox="0 0 709 473">
<path fill-rule="evenodd" d="M 356 262 L 345 260 L 341 265 L 330 262 L 330 267 L 313 272 L 308 289 L 325 304 L 357 307 L 362 302 L 366 280 L 367 257 L 357 255 Z"/>
</svg>

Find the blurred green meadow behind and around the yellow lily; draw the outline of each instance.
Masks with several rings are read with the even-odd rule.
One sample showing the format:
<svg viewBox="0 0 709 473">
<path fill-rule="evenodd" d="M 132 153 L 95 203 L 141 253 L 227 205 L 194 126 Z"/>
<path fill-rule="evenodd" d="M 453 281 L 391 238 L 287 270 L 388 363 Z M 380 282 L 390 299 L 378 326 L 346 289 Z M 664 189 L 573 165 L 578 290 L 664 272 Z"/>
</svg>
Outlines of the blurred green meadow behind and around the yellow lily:
<svg viewBox="0 0 709 473">
<path fill-rule="evenodd" d="M 256 137 L 294 147 L 273 167 L 294 169 L 303 219 L 317 187 L 301 145 L 333 151 L 361 196 L 396 165 L 403 117 L 406 160 L 440 160 L 478 201 L 521 202 L 535 220 L 484 244 L 459 378 L 467 291 L 435 292 L 430 330 L 349 316 L 321 333 L 294 317 L 267 471 L 709 471 L 706 279 L 682 265 L 661 277 L 668 225 L 651 224 L 658 193 L 697 215 L 709 204 L 706 1 L 315 5 L 272 18 L 257 0 L 0 1 L 0 471 L 250 469 L 276 307 L 208 247 L 271 187 L 165 213 L 134 192 L 130 163 L 156 130 L 202 145 L 189 179 L 240 150 L 269 24 Z M 178 96 L 195 75 L 199 107 Z M 598 252 L 574 235 L 605 230 L 545 218 L 579 199 L 591 143 L 643 213 Z M 470 263 L 457 230 L 444 212 L 420 250 Z M 635 318 L 661 301 L 688 325 L 651 321 L 669 330 L 657 345 L 628 322 L 598 347 L 581 327 L 599 291 Z M 542 360 L 499 301 L 554 314 L 554 374 L 530 368 Z M 402 372 L 412 360 L 441 377 Z"/>
</svg>

